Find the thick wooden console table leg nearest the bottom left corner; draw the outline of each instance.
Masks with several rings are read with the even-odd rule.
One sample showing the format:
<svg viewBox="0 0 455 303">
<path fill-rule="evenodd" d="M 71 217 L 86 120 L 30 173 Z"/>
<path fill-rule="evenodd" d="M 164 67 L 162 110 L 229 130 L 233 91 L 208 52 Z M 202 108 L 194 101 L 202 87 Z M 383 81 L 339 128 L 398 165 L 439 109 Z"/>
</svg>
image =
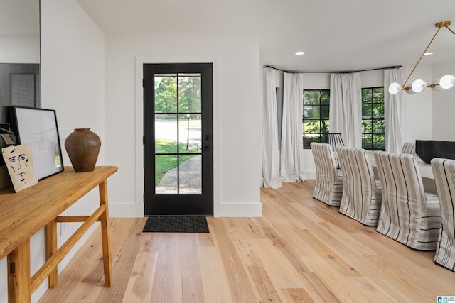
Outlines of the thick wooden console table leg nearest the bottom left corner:
<svg viewBox="0 0 455 303">
<path fill-rule="evenodd" d="M 30 302 L 30 239 L 8 255 L 8 302 Z"/>
</svg>

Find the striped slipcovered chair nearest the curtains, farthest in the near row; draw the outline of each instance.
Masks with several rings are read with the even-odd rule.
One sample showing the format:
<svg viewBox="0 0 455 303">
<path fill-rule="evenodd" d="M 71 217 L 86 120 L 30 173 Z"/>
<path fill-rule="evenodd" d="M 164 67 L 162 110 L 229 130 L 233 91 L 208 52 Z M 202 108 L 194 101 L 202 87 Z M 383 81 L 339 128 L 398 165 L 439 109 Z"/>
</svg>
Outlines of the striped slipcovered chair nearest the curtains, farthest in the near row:
<svg viewBox="0 0 455 303">
<path fill-rule="evenodd" d="M 316 184 L 313 197 L 331 206 L 340 206 L 343 194 L 343 177 L 336 169 L 333 152 L 326 143 L 312 142 L 311 152 L 316 165 Z"/>
</svg>

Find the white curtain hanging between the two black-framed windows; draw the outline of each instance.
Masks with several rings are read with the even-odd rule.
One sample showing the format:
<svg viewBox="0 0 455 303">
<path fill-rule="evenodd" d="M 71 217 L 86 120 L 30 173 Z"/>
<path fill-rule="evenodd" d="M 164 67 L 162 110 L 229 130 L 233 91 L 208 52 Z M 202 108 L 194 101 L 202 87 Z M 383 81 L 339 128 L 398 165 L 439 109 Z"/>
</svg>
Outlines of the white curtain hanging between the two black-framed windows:
<svg viewBox="0 0 455 303">
<path fill-rule="evenodd" d="M 330 75 L 331 133 L 341 133 L 351 148 L 362 147 L 362 84 L 360 72 Z"/>
</svg>

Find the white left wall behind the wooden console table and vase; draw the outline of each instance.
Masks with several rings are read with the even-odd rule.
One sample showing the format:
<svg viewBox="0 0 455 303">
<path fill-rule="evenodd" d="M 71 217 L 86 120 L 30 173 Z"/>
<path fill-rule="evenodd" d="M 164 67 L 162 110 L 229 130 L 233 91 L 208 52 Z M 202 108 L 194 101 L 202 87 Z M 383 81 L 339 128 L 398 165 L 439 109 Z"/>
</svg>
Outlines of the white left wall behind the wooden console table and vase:
<svg viewBox="0 0 455 303">
<path fill-rule="evenodd" d="M 55 109 L 59 128 L 90 127 L 104 141 L 105 41 L 104 34 L 73 0 L 41 0 L 41 100 L 42 107 Z M 63 145 L 62 145 L 63 148 Z M 65 148 L 63 148 L 65 153 Z M 104 162 L 100 151 L 98 165 Z M 70 165 L 68 155 L 64 164 Z M 108 181 L 109 185 L 109 181 Z M 110 189 L 109 189 L 110 190 Z M 65 214 L 91 214 L 97 207 L 97 189 L 80 199 Z M 80 224 L 58 227 L 60 246 Z M 60 263 L 68 263 L 95 226 Z M 31 274 L 44 263 L 44 232 L 31 238 Z M 6 258 L 0 260 L 0 302 L 7 302 Z M 32 295 L 38 301 L 47 281 Z"/>
</svg>

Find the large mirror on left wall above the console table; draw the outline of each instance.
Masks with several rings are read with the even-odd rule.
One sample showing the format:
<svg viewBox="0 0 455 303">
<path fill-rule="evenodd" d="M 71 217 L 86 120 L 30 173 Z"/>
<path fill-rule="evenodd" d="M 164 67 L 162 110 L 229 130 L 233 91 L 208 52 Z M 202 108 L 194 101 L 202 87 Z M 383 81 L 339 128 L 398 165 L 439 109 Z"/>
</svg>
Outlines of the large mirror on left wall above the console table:
<svg viewBox="0 0 455 303">
<path fill-rule="evenodd" d="M 0 133 L 11 105 L 41 107 L 39 0 L 0 0 Z"/>
</svg>

